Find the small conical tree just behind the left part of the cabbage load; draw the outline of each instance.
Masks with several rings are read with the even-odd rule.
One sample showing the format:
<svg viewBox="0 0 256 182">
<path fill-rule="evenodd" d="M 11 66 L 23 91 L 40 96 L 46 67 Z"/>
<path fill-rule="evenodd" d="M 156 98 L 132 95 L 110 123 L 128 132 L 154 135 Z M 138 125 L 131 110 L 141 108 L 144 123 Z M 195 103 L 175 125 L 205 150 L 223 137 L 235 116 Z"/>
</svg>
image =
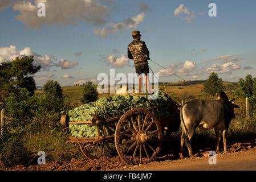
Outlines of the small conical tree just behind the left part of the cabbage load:
<svg viewBox="0 0 256 182">
<path fill-rule="evenodd" d="M 84 90 L 83 90 L 83 96 L 82 96 L 83 104 L 96 101 L 97 96 L 98 96 L 97 90 L 92 85 L 92 82 L 87 81 L 86 85 L 84 85 Z"/>
</svg>

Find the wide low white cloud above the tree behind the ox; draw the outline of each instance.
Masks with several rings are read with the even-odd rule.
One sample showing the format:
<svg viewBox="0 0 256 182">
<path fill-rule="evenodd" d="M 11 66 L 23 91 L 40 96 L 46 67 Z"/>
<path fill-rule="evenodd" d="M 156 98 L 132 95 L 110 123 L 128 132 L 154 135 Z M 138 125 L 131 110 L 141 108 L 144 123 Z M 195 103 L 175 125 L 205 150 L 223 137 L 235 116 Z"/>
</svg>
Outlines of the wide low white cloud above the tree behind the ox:
<svg viewBox="0 0 256 182">
<path fill-rule="evenodd" d="M 241 66 L 230 61 L 224 64 L 213 64 L 211 67 L 208 67 L 205 69 L 204 72 L 206 73 L 228 73 L 231 74 L 233 71 L 237 70 L 237 69 L 241 69 Z"/>
</svg>

